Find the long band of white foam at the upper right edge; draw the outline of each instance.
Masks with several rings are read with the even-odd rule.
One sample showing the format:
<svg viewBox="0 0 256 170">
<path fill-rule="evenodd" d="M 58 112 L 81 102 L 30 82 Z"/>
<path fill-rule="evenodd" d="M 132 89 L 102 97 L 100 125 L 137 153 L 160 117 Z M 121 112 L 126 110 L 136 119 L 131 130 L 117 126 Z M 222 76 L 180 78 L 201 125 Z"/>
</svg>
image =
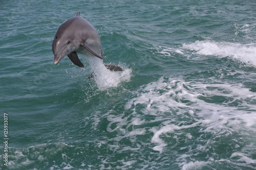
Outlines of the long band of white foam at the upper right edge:
<svg viewBox="0 0 256 170">
<path fill-rule="evenodd" d="M 239 44 L 216 41 L 195 41 L 183 44 L 183 48 L 196 51 L 199 55 L 231 57 L 249 65 L 256 66 L 256 44 Z"/>
</svg>

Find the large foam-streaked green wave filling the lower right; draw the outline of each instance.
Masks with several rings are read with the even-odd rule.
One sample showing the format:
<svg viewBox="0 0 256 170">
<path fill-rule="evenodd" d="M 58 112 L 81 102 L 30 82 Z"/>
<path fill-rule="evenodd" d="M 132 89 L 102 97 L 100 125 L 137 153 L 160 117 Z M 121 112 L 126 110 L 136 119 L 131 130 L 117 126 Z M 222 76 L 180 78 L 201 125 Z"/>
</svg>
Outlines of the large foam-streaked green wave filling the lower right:
<svg viewBox="0 0 256 170">
<path fill-rule="evenodd" d="M 251 146 L 245 143 L 256 137 L 252 135 L 256 132 L 256 94 L 242 84 L 204 84 L 163 77 L 142 86 L 134 95 L 126 109 L 138 116 L 140 126 L 152 127 L 144 131 L 153 132 L 152 150 L 178 150 L 176 164 L 183 169 L 221 162 L 234 167 L 253 166 L 255 161 L 238 161 L 252 159 Z M 152 118 L 147 121 L 140 118 L 142 115 Z M 211 151 L 218 147 L 225 151 Z M 206 161 L 200 161 L 206 153 Z"/>
</svg>

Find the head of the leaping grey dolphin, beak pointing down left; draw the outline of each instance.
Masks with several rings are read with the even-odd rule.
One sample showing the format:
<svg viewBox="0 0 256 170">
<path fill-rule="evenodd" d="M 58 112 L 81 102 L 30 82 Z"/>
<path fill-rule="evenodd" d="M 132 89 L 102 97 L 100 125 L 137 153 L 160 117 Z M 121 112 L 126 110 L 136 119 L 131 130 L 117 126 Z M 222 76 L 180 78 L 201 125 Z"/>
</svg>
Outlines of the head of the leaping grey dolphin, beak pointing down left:
<svg viewBox="0 0 256 170">
<path fill-rule="evenodd" d="M 75 38 L 76 36 L 73 35 L 74 30 L 69 27 L 71 21 L 72 18 L 63 22 L 54 36 L 52 42 L 52 52 L 55 55 L 54 64 L 58 64 L 63 57 L 74 52 L 80 45 L 80 42 Z"/>
</svg>

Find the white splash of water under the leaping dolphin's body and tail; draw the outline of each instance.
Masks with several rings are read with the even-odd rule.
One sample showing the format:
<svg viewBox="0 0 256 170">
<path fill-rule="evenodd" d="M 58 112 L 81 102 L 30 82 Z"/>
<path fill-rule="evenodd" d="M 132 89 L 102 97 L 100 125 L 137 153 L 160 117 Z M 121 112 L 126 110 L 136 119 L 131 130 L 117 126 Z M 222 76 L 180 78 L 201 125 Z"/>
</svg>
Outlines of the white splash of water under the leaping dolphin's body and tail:
<svg viewBox="0 0 256 170">
<path fill-rule="evenodd" d="M 110 71 L 106 69 L 101 59 L 90 56 L 88 58 L 94 80 L 100 90 L 117 87 L 121 82 L 130 81 L 132 69 L 125 68 L 123 71 Z"/>
</svg>

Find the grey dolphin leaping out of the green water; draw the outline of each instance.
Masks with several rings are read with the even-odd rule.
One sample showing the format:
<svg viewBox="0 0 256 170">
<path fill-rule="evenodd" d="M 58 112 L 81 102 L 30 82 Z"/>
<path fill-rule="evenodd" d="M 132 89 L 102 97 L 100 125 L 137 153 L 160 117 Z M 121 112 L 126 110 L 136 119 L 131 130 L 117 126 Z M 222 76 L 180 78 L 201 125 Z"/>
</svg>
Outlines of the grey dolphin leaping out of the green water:
<svg viewBox="0 0 256 170">
<path fill-rule="evenodd" d="M 67 19 L 59 26 L 52 42 L 52 51 L 54 64 L 58 64 L 67 55 L 75 65 L 84 67 L 77 53 L 103 60 L 99 34 L 88 20 L 80 17 L 79 11 L 75 17 Z M 104 65 L 111 71 L 122 71 L 118 65 Z"/>
</svg>

